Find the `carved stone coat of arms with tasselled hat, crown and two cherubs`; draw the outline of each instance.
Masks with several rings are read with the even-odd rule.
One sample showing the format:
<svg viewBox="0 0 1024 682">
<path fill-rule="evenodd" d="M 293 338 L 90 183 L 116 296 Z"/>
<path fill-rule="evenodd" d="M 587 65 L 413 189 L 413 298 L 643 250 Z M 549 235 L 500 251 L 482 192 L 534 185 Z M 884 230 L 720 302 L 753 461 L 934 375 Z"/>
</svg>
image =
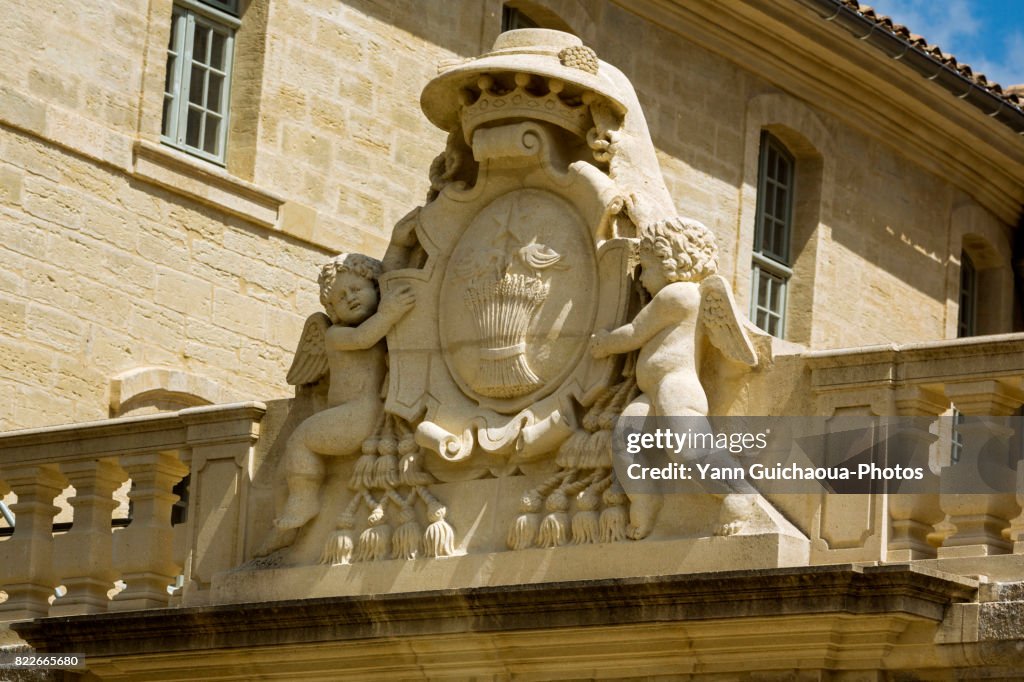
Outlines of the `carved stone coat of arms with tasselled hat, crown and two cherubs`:
<svg viewBox="0 0 1024 682">
<path fill-rule="evenodd" d="M 504 33 L 442 65 L 421 104 L 445 150 L 427 202 L 394 227 L 380 309 L 378 270 L 347 265 L 362 257 L 332 266 L 361 286 L 355 303 L 322 276 L 331 319 L 307 322 L 289 380 L 330 370 L 330 407 L 288 440 L 289 493 L 263 553 L 315 525 L 323 456 L 359 453 L 326 563 L 459 551 L 431 491 L 486 477 L 536 481 L 507 520 L 511 549 L 647 536 L 658 501 L 616 480 L 616 419 L 714 414 L 730 394 L 706 391 L 701 371 L 766 355 L 715 274 L 710 232 L 677 217 L 628 79 L 574 36 Z M 749 503 L 728 496 L 717 530 L 739 530 Z"/>
</svg>

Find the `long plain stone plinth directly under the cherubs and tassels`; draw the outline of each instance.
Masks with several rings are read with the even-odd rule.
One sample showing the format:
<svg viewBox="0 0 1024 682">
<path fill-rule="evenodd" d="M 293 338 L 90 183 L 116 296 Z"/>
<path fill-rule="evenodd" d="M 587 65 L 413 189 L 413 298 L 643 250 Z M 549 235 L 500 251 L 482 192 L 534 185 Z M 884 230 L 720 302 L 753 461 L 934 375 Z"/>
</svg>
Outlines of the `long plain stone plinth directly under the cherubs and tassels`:
<svg viewBox="0 0 1024 682">
<path fill-rule="evenodd" d="M 486 524 L 486 520 L 482 523 Z M 566 585 L 613 579 L 652 580 L 653 576 L 700 574 L 722 566 L 746 571 L 806 566 L 808 560 L 809 543 L 805 538 L 779 532 L 729 538 L 647 538 L 643 542 L 565 545 L 514 552 L 476 551 L 442 559 L 240 568 L 215 576 L 209 593 L 194 594 L 186 589 L 183 604 Z M 203 601 L 204 598 L 208 601 Z"/>
</svg>

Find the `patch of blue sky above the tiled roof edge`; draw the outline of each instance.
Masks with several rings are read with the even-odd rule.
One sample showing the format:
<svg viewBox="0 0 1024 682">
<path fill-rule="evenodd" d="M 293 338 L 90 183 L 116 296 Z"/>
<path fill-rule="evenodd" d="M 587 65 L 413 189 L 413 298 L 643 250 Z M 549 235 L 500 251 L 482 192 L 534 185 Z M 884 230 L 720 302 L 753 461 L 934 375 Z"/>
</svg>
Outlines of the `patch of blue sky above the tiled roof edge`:
<svg viewBox="0 0 1024 682">
<path fill-rule="evenodd" d="M 990 81 L 1004 87 L 1024 84 L 1024 0 L 867 0 L 866 4 Z"/>
</svg>

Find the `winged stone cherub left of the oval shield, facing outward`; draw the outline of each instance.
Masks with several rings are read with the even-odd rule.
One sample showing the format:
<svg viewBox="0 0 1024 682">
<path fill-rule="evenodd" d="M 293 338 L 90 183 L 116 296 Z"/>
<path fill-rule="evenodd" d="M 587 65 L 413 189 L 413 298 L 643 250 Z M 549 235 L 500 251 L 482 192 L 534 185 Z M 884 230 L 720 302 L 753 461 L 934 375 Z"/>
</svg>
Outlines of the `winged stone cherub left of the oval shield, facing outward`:
<svg viewBox="0 0 1024 682">
<path fill-rule="evenodd" d="M 323 458 L 357 455 L 373 435 L 383 409 L 384 336 L 415 303 L 408 287 L 380 300 L 380 273 L 379 261 L 356 253 L 341 254 L 321 270 L 321 303 L 327 314 L 306 319 L 288 383 L 311 384 L 330 373 L 328 407 L 299 424 L 288 439 L 283 458 L 288 500 L 274 519 L 274 532 L 257 554 L 291 544 L 298 528 L 319 511 Z"/>
</svg>

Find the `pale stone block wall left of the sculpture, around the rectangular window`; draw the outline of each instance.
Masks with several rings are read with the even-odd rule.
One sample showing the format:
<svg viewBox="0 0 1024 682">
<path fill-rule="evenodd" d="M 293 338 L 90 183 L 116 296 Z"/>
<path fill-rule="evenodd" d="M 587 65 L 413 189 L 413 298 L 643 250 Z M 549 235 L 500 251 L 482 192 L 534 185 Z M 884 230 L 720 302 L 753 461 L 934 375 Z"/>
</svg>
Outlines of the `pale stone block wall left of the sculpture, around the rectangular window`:
<svg viewBox="0 0 1024 682">
<path fill-rule="evenodd" d="M 104 418 L 130 397 L 112 380 L 139 368 L 202 383 L 202 401 L 287 396 L 321 262 L 381 255 L 422 201 L 443 135 L 418 92 L 453 53 L 390 26 L 411 6 L 259 2 L 245 12 L 264 35 L 246 40 L 263 62 L 240 55 L 236 84 L 261 92 L 254 165 L 232 156 L 246 155 L 236 129 L 227 161 L 287 200 L 270 220 L 141 170 L 135 140 L 159 142 L 170 2 L 36 3 L 0 27 L 0 430 Z M 418 29 L 440 42 L 432 16 Z M 188 163 L 182 186 L 201 184 L 206 164 Z"/>
</svg>

